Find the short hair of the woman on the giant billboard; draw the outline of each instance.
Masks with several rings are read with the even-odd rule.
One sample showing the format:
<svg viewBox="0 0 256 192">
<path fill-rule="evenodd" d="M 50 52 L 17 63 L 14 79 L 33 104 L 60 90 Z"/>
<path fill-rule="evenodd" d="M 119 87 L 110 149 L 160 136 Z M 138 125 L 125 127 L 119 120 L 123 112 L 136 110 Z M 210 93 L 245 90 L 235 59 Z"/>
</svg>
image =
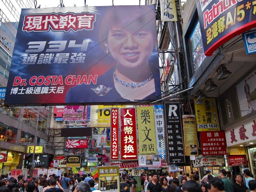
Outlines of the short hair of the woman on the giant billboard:
<svg viewBox="0 0 256 192">
<path fill-rule="evenodd" d="M 109 9 L 103 17 L 99 31 L 99 43 L 103 50 L 111 29 L 124 29 L 131 33 L 141 29 L 155 34 L 155 8 L 151 10 L 148 6 L 115 6 Z"/>
</svg>

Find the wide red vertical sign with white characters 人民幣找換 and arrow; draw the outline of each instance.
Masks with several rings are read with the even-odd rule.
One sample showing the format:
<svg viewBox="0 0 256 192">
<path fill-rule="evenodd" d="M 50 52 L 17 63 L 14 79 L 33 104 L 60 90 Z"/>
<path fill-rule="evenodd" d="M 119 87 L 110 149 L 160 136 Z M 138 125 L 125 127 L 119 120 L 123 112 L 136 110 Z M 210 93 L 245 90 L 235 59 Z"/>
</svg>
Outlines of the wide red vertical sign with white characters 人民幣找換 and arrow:
<svg viewBox="0 0 256 192">
<path fill-rule="evenodd" d="M 120 108 L 121 161 L 138 160 L 136 109 Z"/>
</svg>

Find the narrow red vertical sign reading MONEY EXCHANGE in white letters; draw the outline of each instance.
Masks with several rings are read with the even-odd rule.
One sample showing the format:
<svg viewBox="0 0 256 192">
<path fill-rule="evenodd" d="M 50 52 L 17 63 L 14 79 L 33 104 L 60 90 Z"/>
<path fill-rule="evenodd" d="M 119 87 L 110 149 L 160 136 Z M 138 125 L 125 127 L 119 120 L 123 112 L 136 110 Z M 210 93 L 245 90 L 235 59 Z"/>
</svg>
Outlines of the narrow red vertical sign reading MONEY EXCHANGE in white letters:
<svg viewBox="0 0 256 192">
<path fill-rule="evenodd" d="M 119 143 L 118 143 L 118 108 L 111 108 L 111 129 L 110 129 L 110 146 L 111 160 L 119 160 Z"/>
</svg>

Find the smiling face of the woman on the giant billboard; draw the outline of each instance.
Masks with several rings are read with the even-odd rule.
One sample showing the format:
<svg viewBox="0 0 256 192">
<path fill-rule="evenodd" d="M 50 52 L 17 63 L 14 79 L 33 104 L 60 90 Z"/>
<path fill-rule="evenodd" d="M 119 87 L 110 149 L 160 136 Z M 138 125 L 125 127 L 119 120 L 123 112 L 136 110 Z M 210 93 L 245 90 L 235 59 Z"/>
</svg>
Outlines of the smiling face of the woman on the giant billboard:
<svg viewBox="0 0 256 192">
<path fill-rule="evenodd" d="M 151 31 L 141 30 L 135 33 L 122 30 L 109 30 L 108 49 L 117 65 L 137 68 L 148 63 L 154 47 Z"/>
</svg>

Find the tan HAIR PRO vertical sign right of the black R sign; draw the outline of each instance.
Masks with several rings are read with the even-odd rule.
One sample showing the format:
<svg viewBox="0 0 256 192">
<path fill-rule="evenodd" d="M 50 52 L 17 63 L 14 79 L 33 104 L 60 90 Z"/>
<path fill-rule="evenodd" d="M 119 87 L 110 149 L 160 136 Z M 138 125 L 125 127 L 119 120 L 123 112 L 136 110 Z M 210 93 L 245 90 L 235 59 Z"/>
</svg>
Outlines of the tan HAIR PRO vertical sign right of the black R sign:
<svg viewBox="0 0 256 192">
<path fill-rule="evenodd" d="M 183 115 L 184 151 L 185 156 L 198 155 L 196 116 Z"/>
</svg>

